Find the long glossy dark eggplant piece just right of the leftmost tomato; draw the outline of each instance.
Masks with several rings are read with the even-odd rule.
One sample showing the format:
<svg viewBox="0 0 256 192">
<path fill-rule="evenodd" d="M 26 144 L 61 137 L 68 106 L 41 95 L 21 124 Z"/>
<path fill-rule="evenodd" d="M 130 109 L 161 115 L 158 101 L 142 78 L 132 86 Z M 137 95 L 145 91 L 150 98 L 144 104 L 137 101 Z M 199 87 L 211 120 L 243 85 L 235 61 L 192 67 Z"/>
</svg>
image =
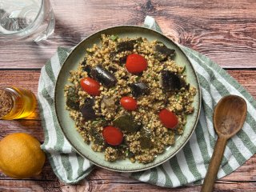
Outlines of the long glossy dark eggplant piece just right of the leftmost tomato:
<svg viewBox="0 0 256 192">
<path fill-rule="evenodd" d="M 91 76 L 101 82 L 106 87 L 115 86 L 118 82 L 117 78 L 114 77 L 114 74 L 111 74 L 110 71 L 103 68 L 101 65 L 94 67 L 90 71 Z"/>
</svg>

